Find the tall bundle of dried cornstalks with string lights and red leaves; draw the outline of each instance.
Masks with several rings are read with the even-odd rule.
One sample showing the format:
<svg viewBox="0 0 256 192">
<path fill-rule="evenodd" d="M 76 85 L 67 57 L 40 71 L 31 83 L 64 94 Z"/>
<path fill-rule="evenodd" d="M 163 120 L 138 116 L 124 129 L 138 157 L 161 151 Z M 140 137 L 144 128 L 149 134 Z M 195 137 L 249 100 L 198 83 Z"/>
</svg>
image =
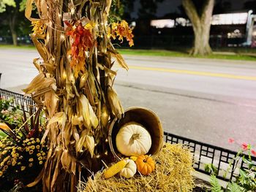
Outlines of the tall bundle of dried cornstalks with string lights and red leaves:
<svg viewBox="0 0 256 192">
<path fill-rule="evenodd" d="M 32 4 L 38 18 L 31 18 Z M 108 125 L 124 112 L 113 90 L 112 57 L 128 69 L 108 38 L 111 0 L 28 0 L 26 18 L 40 59 L 39 74 L 24 89 L 45 110 L 48 158 L 43 191 L 75 191 L 78 170 L 108 161 Z M 129 31 L 130 33 L 130 31 Z M 129 34 L 129 38 L 132 37 Z M 110 153 L 109 153 L 110 154 Z"/>
</svg>

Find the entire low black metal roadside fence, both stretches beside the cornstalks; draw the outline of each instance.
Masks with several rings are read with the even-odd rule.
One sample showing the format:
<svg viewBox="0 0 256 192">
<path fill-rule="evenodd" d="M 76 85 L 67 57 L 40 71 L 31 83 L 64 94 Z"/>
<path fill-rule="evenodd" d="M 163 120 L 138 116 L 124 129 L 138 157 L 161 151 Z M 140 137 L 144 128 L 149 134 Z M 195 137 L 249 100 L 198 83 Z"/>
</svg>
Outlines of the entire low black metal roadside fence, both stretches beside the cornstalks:
<svg viewBox="0 0 256 192">
<path fill-rule="evenodd" d="M 0 89 L 0 97 L 5 99 L 14 99 L 12 107 L 17 105 L 24 106 L 24 110 L 29 112 L 29 107 L 34 105 L 34 101 L 29 96 L 23 96 L 19 93 L 14 93 L 4 89 Z M 224 149 L 222 147 L 217 147 L 214 145 L 208 145 L 203 142 L 197 142 L 192 139 L 180 137 L 175 134 L 170 134 L 165 132 L 165 142 L 170 142 L 171 144 L 182 144 L 187 145 L 189 150 L 192 152 L 193 157 L 193 167 L 198 172 L 203 172 L 204 174 L 210 174 L 205 171 L 206 164 L 213 164 L 217 168 L 217 177 L 221 180 L 234 180 L 239 174 L 238 168 L 246 169 L 246 164 L 240 159 L 238 162 L 234 161 L 236 157 L 236 152 Z M 252 157 L 253 163 L 256 165 L 256 157 Z M 227 169 L 230 167 L 229 172 L 226 173 Z"/>
</svg>

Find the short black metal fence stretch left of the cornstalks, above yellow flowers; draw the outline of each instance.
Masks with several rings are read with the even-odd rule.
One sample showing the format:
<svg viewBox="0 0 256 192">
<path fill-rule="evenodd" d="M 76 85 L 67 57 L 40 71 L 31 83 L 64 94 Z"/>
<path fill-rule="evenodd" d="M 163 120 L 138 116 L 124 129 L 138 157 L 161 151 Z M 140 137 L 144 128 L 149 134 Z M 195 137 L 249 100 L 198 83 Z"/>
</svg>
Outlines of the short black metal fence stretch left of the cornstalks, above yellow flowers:
<svg viewBox="0 0 256 192">
<path fill-rule="evenodd" d="M 7 91 L 0 88 L 0 98 L 4 99 L 14 99 L 13 103 L 10 104 L 11 107 L 19 106 L 21 109 L 24 108 L 25 112 L 29 112 L 31 106 L 35 106 L 34 101 L 29 96 L 24 96 L 19 93 L 14 93 L 12 91 Z M 35 107 L 32 107 L 35 110 Z"/>
</svg>

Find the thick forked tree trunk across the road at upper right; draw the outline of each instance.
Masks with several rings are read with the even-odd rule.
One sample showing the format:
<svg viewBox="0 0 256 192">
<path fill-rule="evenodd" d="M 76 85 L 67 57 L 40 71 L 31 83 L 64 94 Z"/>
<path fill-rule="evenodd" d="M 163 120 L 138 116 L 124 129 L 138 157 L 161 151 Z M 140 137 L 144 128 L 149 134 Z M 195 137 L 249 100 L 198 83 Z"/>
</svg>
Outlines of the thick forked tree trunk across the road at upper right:
<svg viewBox="0 0 256 192">
<path fill-rule="evenodd" d="M 199 15 L 192 0 L 182 0 L 182 5 L 192 23 L 194 31 L 194 46 L 190 51 L 191 55 L 211 54 L 209 45 L 211 16 L 214 9 L 214 0 L 206 0 L 203 5 L 202 14 Z"/>
</svg>

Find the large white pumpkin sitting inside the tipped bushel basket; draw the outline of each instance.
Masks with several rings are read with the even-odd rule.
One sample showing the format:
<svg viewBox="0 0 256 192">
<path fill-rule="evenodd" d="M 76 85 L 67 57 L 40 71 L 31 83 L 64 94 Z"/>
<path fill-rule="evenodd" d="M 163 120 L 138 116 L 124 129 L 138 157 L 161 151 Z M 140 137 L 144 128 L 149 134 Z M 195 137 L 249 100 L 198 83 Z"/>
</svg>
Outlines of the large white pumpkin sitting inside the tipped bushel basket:
<svg viewBox="0 0 256 192">
<path fill-rule="evenodd" d="M 145 155 L 151 147 L 151 136 L 139 123 L 130 122 L 118 131 L 116 147 L 126 156 Z"/>
</svg>

